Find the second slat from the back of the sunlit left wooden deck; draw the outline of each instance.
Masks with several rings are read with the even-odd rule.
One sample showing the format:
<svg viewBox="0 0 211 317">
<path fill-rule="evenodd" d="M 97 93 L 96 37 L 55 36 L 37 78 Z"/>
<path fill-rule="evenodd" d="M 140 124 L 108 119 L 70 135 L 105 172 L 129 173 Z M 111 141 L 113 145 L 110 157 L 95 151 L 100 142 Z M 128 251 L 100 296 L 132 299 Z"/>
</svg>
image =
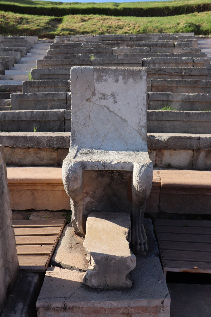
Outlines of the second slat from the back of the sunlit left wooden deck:
<svg viewBox="0 0 211 317">
<path fill-rule="evenodd" d="M 58 236 L 61 227 L 15 228 L 15 236 Z"/>
</svg>

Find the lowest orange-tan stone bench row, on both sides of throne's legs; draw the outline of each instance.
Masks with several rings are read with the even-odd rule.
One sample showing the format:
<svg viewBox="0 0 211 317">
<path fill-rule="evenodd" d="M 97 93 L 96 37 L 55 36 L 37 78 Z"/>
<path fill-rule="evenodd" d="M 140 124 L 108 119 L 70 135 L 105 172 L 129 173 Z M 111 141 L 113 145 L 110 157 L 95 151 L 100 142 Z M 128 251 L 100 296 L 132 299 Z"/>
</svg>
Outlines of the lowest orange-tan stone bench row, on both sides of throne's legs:
<svg viewBox="0 0 211 317">
<path fill-rule="evenodd" d="M 7 167 L 13 210 L 70 210 L 61 167 Z M 154 170 L 146 212 L 210 214 L 211 171 Z M 205 203 L 206 202 L 206 203 Z"/>
</svg>

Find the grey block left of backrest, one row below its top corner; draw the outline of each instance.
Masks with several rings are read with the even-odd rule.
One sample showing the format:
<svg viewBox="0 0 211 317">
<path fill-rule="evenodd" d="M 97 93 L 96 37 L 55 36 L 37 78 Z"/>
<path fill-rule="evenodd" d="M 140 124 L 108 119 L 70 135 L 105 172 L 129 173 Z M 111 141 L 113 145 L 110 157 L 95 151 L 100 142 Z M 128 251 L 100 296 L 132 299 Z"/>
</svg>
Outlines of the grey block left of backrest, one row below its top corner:
<svg viewBox="0 0 211 317">
<path fill-rule="evenodd" d="M 68 92 L 67 80 L 23 81 L 23 93 Z"/>
</svg>

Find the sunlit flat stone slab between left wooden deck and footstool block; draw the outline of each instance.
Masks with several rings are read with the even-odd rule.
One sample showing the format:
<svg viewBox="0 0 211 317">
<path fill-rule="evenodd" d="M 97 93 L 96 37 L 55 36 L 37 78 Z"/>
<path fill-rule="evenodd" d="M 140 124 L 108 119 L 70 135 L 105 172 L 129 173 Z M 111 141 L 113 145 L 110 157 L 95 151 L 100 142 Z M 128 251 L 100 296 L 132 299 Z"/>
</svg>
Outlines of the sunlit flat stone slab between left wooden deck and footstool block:
<svg viewBox="0 0 211 317">
<path fill-rule="evenodd" d="M 83 243 L 84 238 L 77 236 L 71 224 L 68 224 L 59 239 L 51 265 L 86 272 L 88 261 Z"/>
</svg>

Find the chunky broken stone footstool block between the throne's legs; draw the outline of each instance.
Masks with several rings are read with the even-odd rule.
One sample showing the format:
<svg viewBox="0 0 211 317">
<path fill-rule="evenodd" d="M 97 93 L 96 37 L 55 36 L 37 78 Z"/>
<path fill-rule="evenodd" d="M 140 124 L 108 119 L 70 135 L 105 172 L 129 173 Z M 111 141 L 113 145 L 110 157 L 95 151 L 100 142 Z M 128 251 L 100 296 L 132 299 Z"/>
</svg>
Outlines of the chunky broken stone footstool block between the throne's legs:
<svg viewBox="0 0 211 317">
<path fill-rule="evenodd" d="M 92 288 L 131 288 L 129 272 L 136 257 L 129 243 L 130 214 L 125 212 L 90 212 L 86 221 L 84 248 L 89 267 L 83 277 Z"/>
</svg>

